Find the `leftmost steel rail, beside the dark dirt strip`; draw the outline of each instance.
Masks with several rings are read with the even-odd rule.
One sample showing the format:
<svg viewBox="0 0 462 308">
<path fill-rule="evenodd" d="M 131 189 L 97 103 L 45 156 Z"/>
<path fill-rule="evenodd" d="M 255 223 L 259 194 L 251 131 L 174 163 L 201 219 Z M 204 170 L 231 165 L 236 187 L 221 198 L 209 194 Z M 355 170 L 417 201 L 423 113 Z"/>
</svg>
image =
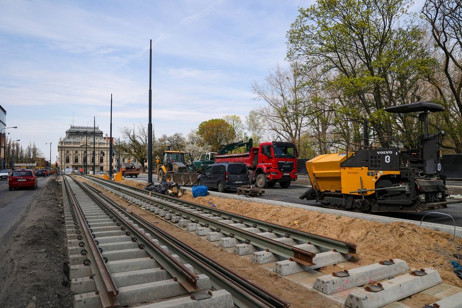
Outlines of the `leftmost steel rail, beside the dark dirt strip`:
<svg viewBox="0 0 462 308">
<path fill-rule="evenodd" d="M 63 176 L 64 187 L 67 190 L 68 197 L 70 198 L 74 212 L 77 213 L 78 220 L 82 226 L 82 231 L 84 232 L 86 241 L 89 245 L 89 251 L 87 251 L 87 256 L 92 258 L 95 261 L 90 261 L 89 266 L 91 267 L 92 273 L 95 275 L 94 280 L 97 286 L 97 291 L 101 299 L 101 304 L 104 308 L 107 307 L 118 307 L 120 306 L 119 300 L 117 299 L 117 294 L 119 294 L 119 289 L 117 288 L 114 280 L 112 279 L 109 270 L 107 269 L 106 262 L 103 259 L 98 247 L 93 240 L 89 226 L 86 223 L 85 217 L 81 212 L 80 205 L 78 200 L 75 198 L 75 195 L 72 192 L 71 185 L 68 182 L 68 179 Z M 72 215 L 75 216 L 75 215 Z M 74 218 L 74 217 L 73 217 Z"/>
</svg>

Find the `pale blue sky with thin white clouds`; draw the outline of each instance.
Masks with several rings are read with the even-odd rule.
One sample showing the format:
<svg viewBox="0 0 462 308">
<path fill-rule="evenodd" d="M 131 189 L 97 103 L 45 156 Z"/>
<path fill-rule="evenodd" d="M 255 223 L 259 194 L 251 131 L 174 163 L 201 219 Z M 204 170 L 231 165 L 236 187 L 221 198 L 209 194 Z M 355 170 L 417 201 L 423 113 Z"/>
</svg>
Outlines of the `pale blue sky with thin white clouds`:
<svg viewBox="0 0 462 308">
<path fill-rule="evenodd" d="M 420 1 L 419 1 L 420 2 Z M 70 125 L 156 137 L 254 108 L 250 84 L 284 65 L 285 34 L 313 0 L 0 0 L 0 105 L 10 137 L 45 157 Z M 417 4 L 416 4 L 417 5 Z M 422 6 L 419 4 L 418 6 Z"/>
</svg>

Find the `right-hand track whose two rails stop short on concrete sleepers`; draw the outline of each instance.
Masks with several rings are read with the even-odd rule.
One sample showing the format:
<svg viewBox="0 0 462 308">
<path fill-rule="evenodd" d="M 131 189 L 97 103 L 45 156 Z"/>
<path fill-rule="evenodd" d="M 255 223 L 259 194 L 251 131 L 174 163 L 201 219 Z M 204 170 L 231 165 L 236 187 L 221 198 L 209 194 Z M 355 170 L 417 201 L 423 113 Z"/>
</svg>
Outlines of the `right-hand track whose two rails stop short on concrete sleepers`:
<svg viewBox="0 0 462 308">
<path fill-rule="evenodd" d="M 188 231 L 207 235 L 209 240 L 220 240 L 227 248 L 237 246 L 238 254 L 261 252 L 257 263 L 268 260 L 289 259 L 298 264 L 318 268 L 348 259 L 356 253 L 356 244 L 299 231 L 247 216 L 226 212 L 209 206 L 183 201 L 177 198 L 150 193 L 95 177 L 86 177 L 96 185 L 125 200 L 164 217 Z M 314 259 L 317 257 L 316 259 Z M 321 263 L 320 263 L 321 261 Z"/>
</svg>

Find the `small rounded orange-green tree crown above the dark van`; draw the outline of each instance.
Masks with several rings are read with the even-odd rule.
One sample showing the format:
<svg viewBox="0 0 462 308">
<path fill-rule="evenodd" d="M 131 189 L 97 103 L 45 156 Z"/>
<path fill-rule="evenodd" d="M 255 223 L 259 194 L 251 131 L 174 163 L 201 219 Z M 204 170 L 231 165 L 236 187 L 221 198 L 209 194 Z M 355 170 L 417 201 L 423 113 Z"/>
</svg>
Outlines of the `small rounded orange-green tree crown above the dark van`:
<svg viewBox="0 0 462 308">
<path fill-rule="evenodd" d="M 230 124 L 223 119 L 211 119 L 199 124 L 197 135 L 202 137 L 204 145 L 217 152 L 221 145 L 231 143 L 236 134 Z"/>
</svg>

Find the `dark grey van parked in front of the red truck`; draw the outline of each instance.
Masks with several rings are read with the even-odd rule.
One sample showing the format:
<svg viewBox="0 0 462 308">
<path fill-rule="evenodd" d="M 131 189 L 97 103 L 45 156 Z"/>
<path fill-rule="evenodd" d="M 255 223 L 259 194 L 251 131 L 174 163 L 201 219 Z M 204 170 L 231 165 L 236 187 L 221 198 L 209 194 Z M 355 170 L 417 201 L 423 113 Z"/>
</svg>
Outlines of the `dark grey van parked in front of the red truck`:
<svg viewBox="0 0 462 308">
<path fill-rule="evenodd" d="M 226 189 L 249 185 L 249 170 L 244 163 L 216 163 L 210 165 L 197 179 L 199 185 L 224 192 Z"/>
</svg>

